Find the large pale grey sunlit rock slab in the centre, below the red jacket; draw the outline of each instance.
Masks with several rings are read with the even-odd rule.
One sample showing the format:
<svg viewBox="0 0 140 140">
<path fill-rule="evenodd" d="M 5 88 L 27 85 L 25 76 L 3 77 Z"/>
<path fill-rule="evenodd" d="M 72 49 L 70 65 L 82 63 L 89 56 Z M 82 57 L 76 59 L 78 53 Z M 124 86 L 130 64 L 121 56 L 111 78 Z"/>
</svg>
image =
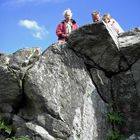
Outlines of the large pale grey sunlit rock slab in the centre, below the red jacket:
<svg viewBox="0 0 140 140">
<path fill-rule="evenodd" d="M 43 127 L 52 137 L 71 140 L 104 137 L 106 105 L 83 60 L 66 44 L 49 47 L 28 70 L 24 92 L 29 102 L 19 115 L 36 120 L 35 125 Z"/>
</svg>

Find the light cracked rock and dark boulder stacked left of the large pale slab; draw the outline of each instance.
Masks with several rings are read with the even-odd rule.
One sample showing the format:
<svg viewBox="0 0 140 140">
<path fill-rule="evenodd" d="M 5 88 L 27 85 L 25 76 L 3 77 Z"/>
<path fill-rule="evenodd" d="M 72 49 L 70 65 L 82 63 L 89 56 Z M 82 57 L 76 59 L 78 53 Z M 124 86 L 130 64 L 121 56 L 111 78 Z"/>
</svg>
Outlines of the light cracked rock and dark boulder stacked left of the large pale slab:
<svg viewBox="0 0 140 140">
<path fill-rule="evenodd" d="M 39 49 L 21 49 L 12 55 L 0 55 L 0 106 L 7 103 L 16 106 L 22 98 L 22 79 L 28 66 L 39 56 Z M 31 63 L 29 63 L 32 60 Z M 1 108 L 0 107 L 0 108 Z M 5 106 L 6 109 L 6 106 Z M 8 108 L 7 108 L 8 109 Z M 7 110 L 6 109 L 6 110 Z"/>
</svg>

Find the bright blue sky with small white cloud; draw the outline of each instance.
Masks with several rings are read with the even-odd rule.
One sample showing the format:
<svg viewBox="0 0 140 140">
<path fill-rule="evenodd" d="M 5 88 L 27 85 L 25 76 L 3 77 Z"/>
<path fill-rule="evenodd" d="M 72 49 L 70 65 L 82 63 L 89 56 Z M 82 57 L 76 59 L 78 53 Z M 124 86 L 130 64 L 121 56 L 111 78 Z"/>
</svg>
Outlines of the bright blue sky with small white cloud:
<svg viewBox="0 0 140 140">
<path fill-rule="evenodd" d="M 45 50 L 57 42 L 56 28 L 70 8 L 79 26 L 92 23 L 91 13 L 110 13 L 124 31 L 140 27 L 140 0 L 0 0 L 0 53 L 22 48 Z"/>
</svg>

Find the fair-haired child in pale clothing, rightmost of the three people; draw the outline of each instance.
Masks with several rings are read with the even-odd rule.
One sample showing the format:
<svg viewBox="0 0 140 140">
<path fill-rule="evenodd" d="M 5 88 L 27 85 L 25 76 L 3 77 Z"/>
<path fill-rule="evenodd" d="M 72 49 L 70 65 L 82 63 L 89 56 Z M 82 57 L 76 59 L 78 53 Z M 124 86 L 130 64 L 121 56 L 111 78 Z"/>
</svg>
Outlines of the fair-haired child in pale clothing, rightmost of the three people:
<svg viewBox="0 0 140 140">
<path fill-rule="evenodd" d="M 118 22 L 113 19 L 110 14 L 104 14 L 102 20 L 107 23 L 117 34 L 124 32 Z"/>
</svg>

